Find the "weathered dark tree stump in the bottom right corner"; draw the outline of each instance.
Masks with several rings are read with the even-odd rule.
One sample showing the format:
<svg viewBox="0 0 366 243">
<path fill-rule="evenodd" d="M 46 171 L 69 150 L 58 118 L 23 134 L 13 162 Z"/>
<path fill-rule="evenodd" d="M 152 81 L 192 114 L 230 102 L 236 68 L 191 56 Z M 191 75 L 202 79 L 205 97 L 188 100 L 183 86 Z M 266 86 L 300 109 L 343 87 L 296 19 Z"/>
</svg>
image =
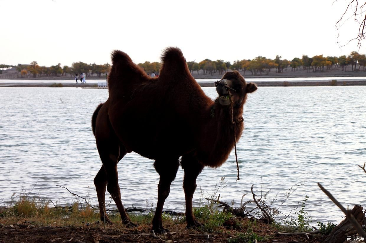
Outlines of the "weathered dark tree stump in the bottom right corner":
<svg viewBox="0 0 366 243">
<path fill-rule="evenodd" d="M 364 224 L 365 214 L 363 213 L 363 208 L 359 205 L 355 205 L 352 209 L 351 214 L 355 216 L 356 221 L 362 226 Z M 347 236 L 355 236 L 356 229 L 347 220 L 347 217 L 336 227 L 333 228 L 332 232 L 322 241 L 322 243 L 343 243 L 347 242 Z M 350 241 L 348 241 L 350 242 Z"/>
</svg>

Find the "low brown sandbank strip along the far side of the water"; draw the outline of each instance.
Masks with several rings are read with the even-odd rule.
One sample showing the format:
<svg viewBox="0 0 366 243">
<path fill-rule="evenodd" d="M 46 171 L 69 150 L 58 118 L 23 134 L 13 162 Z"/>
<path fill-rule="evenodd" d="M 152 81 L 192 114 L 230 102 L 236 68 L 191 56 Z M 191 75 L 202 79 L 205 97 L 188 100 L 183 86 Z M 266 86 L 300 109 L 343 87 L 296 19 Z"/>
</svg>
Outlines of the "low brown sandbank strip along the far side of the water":
<svg viewBox="0 0 366 243">
<path fill-rule="evenodd" d="M 98 88 L 97 84 L 70 84 L 70 83 L 29 83 L 29 82 L 10 82 L 0 83 L 2 87 L 37 87 L 37 88 L 55 88 L 55 84 L 61 84 L 57 88 L 96 88 L 96 89 L 107 89 Z M 214 82 L 198 82 L 201 87 L 214 87 Z M 354 86 L 354 85 L 366 85 L 366 80 L 321 80 L 321 81 L 257 81 L 255 82 L 259 87 L 292 87 L 292 86 Z"/>
</svg>

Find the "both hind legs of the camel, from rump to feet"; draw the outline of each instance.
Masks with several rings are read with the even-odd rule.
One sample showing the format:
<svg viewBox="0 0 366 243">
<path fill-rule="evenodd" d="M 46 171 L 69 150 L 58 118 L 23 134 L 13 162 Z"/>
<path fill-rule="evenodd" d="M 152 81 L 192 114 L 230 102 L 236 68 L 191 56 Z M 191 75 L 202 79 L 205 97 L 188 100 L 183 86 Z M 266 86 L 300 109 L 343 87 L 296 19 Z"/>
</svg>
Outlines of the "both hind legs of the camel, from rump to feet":
<svg viewBox="0 0 366 243">
<path fill-rule="evenodd" d="M 105 212 L 105 189 L 111 194 L 118 211 L 121 215 L 122 222 L 133 225 L 130 217 L 124 210 L 121 192 L 118 185 L 117 163 L 126 155 L 127 151 L 123 144 L 119 143 L 112 126 L 108 119 L 107 108 L 101 107 L 96 117 L 95 138 L 100 159 L 103 163 L 98 174 L 94 178 L 96 186 L 98 202 L 100 208 L 100 218 L 103 222 L 111 223 Z"/>
</svg>

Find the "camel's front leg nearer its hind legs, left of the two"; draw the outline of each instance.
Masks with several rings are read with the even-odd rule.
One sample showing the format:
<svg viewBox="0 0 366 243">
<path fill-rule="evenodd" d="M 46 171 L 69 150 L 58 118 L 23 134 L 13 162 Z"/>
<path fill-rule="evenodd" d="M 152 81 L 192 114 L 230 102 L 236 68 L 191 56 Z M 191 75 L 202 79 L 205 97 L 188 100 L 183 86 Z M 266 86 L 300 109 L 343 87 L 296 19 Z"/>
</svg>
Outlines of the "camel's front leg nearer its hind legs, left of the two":
<svg viewBox="0 0 366 243">
<path fill-rule="evenodd" d="M 178 158 L 173 161 L 160 161 L 156 160 L 154 163 L 155 170 L 160 175 L 158 184 L 158 202 L 156 205 L 156 211 L 153 218 L 152 231 L 157 234 L 164 234 L 169 232 L 168 229 L 163 228 L 163 220 L 161 219 L 161 213 L 163 212 L 164 202 L 167 199 L 170 192 L 170 185 L 175 179 L 177 174 L 179 162 Z"/>
</svg>

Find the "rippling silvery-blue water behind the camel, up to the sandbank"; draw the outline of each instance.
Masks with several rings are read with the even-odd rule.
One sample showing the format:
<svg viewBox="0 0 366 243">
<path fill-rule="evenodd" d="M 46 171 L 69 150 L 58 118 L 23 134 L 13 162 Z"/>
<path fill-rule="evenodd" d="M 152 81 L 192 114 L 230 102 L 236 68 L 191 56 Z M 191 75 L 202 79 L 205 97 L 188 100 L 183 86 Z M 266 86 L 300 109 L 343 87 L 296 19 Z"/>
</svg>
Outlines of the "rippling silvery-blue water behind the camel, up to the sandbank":
<svg viewBox="0 0 366 243">
<path fill-rule="evenodd" d="M 214 88 L 203 90 L 212 98 L 217 95 Z M 357 167 L 366 161 L 365 94 L 365 86 L 259 87 L 244 106 L 245 130 L 237 144 L 240 181 L 235 182 L 232 152 L 223 166 L 199 175 L 194 205 L 200 187 L 205 197 L 225 177 L 220 200 L 234 200 L 236 207 L 244 193 L 251 194 L 252 184 L 256 194 L 261 188 L 271 189 L 270 197 L 278 192 L 279 205 L 286 190 L 303 180 L 282 212 L 290 212 L 307 195 L 306 211 L 313 221 L 339 222 L 343 213 L 317 182 L 345 207 L 365 206 L 366 175 Z M 107 97 L 107 89 L 0 88 L 0 205 L 8 205 L 22 189 L 59 204 L 74 200 L 56 185 L 89 195 L 97 204 L 93 178 L 101 161 L 90 119 Z M 126 207 L 155 207 L 158 174 L 153 161 L 131 153 L 119 165 Z M 179 169 L 164 210 L 184 211 L 182 183 Z"/>
</svg>

